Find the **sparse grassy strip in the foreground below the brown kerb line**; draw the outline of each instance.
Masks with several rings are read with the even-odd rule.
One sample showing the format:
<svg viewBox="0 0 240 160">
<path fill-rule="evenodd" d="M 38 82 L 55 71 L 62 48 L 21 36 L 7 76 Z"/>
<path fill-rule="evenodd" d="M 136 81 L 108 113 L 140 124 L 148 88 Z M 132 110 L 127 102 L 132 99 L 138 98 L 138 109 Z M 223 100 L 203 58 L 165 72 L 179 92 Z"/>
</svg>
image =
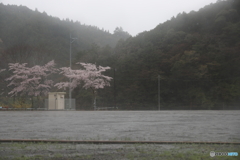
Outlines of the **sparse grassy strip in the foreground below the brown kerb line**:
<svg viewBox="0 0 240 160">
<path fill-rule="evenodd" d="M 68 159 L 129 159 L 129 160 L 212 160 L 210 152 L 238 152 L 239 145 L 208 144 L 61 144 L 61 143 L 0 143 L 0 160 L 68 160 Z M 24 156 L 23 156 L 24 155 Z M 214 159 L 237 160 L 237 157 Z"/>
</svg>

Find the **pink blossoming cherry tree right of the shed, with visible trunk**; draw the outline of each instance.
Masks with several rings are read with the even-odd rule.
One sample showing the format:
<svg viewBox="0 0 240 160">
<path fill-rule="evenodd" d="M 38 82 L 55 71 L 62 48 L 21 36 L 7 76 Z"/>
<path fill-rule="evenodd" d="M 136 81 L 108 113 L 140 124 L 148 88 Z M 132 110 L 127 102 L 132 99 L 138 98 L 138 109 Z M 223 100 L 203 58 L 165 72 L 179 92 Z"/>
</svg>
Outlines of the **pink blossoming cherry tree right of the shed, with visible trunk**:
<svg viewBox="0 0 240 160">
<path fill-rule="evenodd" d="M 83 67 L 83 69 L 72 70 L 70 67 L 63 67 L 61 69 L 61 74 L 71 79 L 70 82 L 60 82 L 55 84 L 59 89 L 66 89 L 68 87 L 73 90 L 79 85 L 82 85 L 85 89 L 91 89 L 94 95 L 94 109 L 96 109 L 96 93 L 97 89 L 104 88 L 105 86 L 110 86 L 111 77 L 104 76 L 102 72 L 110 69 L 110 67 L 96 66 L 91 63 L 76 63 Z"/>
</svg>

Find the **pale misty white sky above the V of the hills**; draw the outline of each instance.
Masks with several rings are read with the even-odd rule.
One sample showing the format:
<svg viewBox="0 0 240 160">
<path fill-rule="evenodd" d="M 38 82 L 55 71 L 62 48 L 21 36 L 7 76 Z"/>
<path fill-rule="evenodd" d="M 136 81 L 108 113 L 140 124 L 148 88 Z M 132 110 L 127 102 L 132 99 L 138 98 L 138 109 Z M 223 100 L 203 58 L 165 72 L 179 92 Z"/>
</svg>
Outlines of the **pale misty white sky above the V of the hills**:
<svg viewBox="0 0 240 160">
<path fill-rule="evenodd" d="M 178 13 L 198 11 L 217 0 L 0 0 L 48 15 L 69 18 L 113 32 L 116 27 L 135 36 L 154 29 Z"/>
</svg>

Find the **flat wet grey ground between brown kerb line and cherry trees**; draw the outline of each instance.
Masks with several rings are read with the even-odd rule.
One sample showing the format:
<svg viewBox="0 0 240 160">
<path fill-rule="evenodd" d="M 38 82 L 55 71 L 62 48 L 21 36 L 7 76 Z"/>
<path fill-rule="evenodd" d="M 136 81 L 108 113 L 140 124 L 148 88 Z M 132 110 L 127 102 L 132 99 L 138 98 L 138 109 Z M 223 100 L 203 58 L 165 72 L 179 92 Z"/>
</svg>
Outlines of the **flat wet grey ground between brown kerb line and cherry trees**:
<svg viewBox="0 0 240 160">
<path fill-rule="evenodd" d="M 240 142 L 240 111 L 2 111 L 0 139 Z"/>
</svg>

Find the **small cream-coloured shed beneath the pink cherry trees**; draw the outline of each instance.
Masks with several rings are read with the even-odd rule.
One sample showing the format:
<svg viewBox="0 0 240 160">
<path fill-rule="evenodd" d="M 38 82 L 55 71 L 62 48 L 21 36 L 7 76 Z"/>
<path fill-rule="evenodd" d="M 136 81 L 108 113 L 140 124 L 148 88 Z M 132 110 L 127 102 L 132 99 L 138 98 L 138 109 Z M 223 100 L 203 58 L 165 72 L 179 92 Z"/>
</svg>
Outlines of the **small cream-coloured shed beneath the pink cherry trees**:
<svg viewBox="0 0 240 160">
<path fill-rule="evenodd" d="M 64 95 L 65 92 L 49 92 L 48 93 L 48 109 L 65 109 Z"/>
</svg>

